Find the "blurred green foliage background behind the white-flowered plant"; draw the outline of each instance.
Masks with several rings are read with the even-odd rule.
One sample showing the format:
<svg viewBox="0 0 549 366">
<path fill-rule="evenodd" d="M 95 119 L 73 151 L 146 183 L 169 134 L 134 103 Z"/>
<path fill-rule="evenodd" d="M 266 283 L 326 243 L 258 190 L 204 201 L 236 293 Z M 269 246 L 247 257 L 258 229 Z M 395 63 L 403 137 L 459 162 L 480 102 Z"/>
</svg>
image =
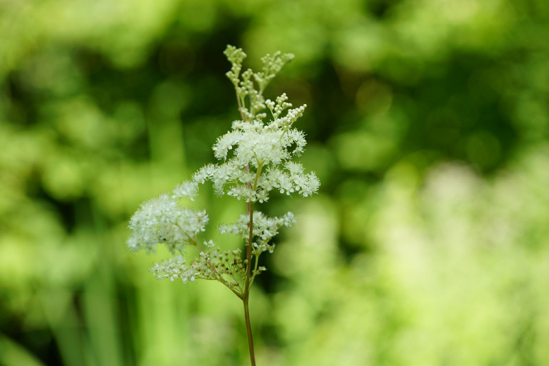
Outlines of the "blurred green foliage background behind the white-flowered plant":
<svg viewBox="0 0 549 366">
<path fill-rule="evenodd" d="M 237 119 L 232 44 L 295 54 L 323 182 L 264 208 L 258 364 L 549 365 L 548 39 L 546 0 L 0 0 L 0 364 L 249 363 L 237 297 L 125 246 Z"/>
</svg>

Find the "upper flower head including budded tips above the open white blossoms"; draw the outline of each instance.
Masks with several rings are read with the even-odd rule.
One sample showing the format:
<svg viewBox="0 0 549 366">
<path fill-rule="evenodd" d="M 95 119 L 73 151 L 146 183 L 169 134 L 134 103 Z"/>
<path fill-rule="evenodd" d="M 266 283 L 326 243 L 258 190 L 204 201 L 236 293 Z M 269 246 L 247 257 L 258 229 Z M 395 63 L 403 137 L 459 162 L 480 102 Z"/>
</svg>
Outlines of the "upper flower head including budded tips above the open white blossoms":
<svg viewBox="0 0 549 366">
<path fill-rule="evenodd" d="M 203 167 L 194 175 L 194 182 L 204 184 L 209 180 L 218 195 L 226 194 L 249 203 L 266 202 L 273 189 L 287 195 L 295 192 L 303 197 L 316 193 L 320 181 L 315 173 L 303 173 L 301 164 L 291 161 L 292 156 L 299 156 L 304 151 L 307 143 L 305 134 L 292 127 L 303 116 L 307 106 L 288 109 L 292 103 L 288 103 L 285 93 L 276 101 L 264 101 L 261 96 L 266 84 L 293 56 L 281 56 L 279 52 L 267 55 L 262 59 L 263 71 L 253 73 L 248 69 L 240 80 L 239 73 L 246 54 L 232 46 L 227 47 L 225 54 L 232 64 L 227 76 L 235 86 L 243 119 L 233 122 L 233 130 L 218 138 L 213 145 L 215 158 L 223 163 Z M 254 75 L 258 89 L 250 75 Z M 250 108 L 245 106 L 246 96 Z M 254 106 L 255 102 L 257 106 Z M 265 108 L 272 114 L 268 123 L 255 114 Z M 287 112 L 282 116 L 284 110 Z"/>
</svg>

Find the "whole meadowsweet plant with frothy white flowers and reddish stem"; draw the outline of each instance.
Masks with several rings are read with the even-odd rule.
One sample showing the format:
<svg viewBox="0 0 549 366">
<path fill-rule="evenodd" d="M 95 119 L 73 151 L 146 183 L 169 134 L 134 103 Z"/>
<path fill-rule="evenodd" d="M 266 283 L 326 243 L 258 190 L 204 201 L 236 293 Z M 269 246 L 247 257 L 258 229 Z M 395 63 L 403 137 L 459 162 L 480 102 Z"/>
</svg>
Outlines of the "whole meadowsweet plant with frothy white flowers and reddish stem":
<svg viewBox="0 0 549 366">
<path fill-rule="evenodd" d="M 207 164 L 191 180 L 176 186 L 171 193 L 144 202 L 130 219 L 132 233 L 128 247 L 133 251 L 154 252 L 157 245 L 165 245 L 171 258 L 156 263 L 150 271 L 159 279 L 216 280 L 231 290 L 244 304 L 250 360 L 255 365 L 255 353 L 248 312 L 250 288 L 254 279 L 266 268 L 259 265 L 264 252 L 272 253 L 272 238 L 283 226 L 295 222 L 292 212 L 280 217 L 268 217 L 259 210 L 272 192 L 308 197 L 318 190 L 320 182 L 314 173 L 305 173 L 296 162 L 305 148 L 305 135 L 294 123 L 306 105 L 293 108 L 283 93 L 274 100 L 264 98 L 269 82 L 292 60 L 292 54 L 267 55 L 261 59 L 259 72 L 242 71 L 246 53 L 227 46 L 224 51 L 231 62 L 226 73 L 235 87 L 240 120 L 220 136 L 213 145 L 217 164 Z M 243 202 L 243 213 L 233 223 L 218 225 L 221 234 L 243 239 L 240 248 L 222 250 L 212 240 L 203 239 L 209 221 L 205 210 L 185 206 L 194 200 L 199 186 L 211 182 L 218 196 L 228 195 Z M 187 261 L 187 251 L 196 256 Z"/>
</svg>

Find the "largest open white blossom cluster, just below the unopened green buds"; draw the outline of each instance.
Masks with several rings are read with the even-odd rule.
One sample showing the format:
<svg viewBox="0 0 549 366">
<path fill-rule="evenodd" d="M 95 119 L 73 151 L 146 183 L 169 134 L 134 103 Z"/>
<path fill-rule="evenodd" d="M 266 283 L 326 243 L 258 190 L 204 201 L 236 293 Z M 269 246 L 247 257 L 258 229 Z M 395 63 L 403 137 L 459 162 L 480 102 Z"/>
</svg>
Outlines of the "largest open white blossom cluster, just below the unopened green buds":
<svg viewBox="0 0 549 366">
<path fill-rule="evenodd" d="M 233 130 L 213 145 L 215 158 L 224 162 L 202 167 L 194 175 L 194 182 L 209 180 L 218 195 L 245 202 L 266 202 L 273 189 L 303 197 L 316 193 L 320 181 L 315 173 L 303 173 L 303 166 L 290 160 L 301 154 L 307 143 L 303 132 L 291 128 L 304 110 L 305 106 L 289 110 L 285 117 L 267 125 L 259 120 L 233 122 Z"/>
</svg>

